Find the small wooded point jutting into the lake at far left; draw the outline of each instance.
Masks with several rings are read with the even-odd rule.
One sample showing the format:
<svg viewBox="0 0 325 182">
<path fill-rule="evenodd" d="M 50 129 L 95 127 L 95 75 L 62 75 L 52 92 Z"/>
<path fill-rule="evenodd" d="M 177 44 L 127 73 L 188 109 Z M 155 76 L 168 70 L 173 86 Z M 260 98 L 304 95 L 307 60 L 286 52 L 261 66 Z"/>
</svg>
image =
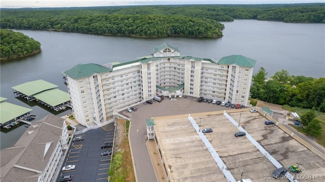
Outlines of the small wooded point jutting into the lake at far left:
<svg viewBox="0 0 325 182">
<path fill-rule="evenodd" d="M 0 60 L 35 54 L 41 50 L 41 43 L 20 32 L 0 29 Z"/>
</svg>

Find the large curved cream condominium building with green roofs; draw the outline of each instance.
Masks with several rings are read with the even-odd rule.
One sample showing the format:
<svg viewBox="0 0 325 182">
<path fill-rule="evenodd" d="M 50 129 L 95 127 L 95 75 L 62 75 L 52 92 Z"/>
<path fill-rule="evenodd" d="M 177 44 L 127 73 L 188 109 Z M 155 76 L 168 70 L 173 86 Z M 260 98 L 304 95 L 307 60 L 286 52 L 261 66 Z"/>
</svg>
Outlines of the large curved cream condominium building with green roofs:
<svg viewBox="0 0 325 182">
<path fill-rule="evenodd" d="M 113 111 L 142 103 L 157 94 L 203 96 L 248 103 L 256 61 L 241 55 L 219 61 L 182 56 L 162 44 L 153 54 L 126 63 L 78 64 L 64 71 L 74 117 L 82 125 L 113 119 Z"/>
</svg>

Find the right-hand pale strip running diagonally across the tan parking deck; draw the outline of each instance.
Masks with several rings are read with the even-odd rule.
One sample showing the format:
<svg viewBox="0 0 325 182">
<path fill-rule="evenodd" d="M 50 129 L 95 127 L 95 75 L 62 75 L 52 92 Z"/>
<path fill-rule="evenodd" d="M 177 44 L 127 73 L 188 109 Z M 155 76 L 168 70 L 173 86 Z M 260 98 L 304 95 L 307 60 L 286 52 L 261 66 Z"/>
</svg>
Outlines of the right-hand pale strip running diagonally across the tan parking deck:
<svg viewBox="0 0 325 182">
<path fill-rule="evenodd" d="M 234 126 L 236 126 L 238 128 L 239 131 L 244 131 L 246 133 L 246 137 L 247 139 L 249 139 L 249 141 L 251 143 L 253 143 L 253 145 L 255 145 L 255 147 L 262 152 L 262 154 L 269 159 L 269 161 L 278 169 L 283 167 L 277 160 L 275 160 L 263 147 L 262 145 L 260 145 L 252 136 L 250 136 L 250 134 L 248 134 L 244 128 L 242 128 L 241 126 L 238 126 L 238 123 L 231 117 L 229 116 L 228 113 L 223 113 L 223 115 L 228 118 L 229 121 L 231 121 L 233 123 Z M 294 176 L 292 176 L 289 172 L 285 173 L 286 177 L 288 180 L 290 180 L 291 182 L 298 182 L 297 179 L 294 179 Z"/>
</svg>

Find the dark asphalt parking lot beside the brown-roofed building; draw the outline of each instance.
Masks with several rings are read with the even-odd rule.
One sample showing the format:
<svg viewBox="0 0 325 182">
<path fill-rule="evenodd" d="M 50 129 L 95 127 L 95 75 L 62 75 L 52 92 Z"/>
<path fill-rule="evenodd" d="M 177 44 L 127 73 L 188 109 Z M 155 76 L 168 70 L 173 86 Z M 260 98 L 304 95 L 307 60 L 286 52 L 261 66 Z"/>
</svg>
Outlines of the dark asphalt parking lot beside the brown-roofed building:
<svg viewBox="0 0 325 182">
<path fill-rule="evenodd" d="M 108 170 L 111 163 L 111 155 L 101 156 L 105 151 L 112 151 L 113 148 L 102 149 L 102 145 L 114 140 L 114 123 L 104 127 L 89 130 L 82 136 L 82 141 L 73 142 L 69 147 L 68 154 L 64 159 L 63 166 L 75 165 L 74 170 L 62 171 L 59 173 L 57 181 L 61 176 L 72 176 L 72 181 L 106 181 L 108 180 Z"/>
</svg>

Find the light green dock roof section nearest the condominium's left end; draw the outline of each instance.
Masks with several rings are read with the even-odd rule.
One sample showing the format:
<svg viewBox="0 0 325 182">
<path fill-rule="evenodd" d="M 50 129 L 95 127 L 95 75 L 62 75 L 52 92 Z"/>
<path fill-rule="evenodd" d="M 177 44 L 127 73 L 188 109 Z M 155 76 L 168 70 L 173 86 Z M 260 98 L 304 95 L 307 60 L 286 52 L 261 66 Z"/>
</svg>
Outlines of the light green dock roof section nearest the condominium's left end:
<svg viewBox="0 0 325 182">
<path fill-rule="evenodd" d="M 59 105 L 70 100 L 69 93 L 59 89 L 51 89 L 34 95 L 35 98 L 52 106 Z"/>
</svg>

